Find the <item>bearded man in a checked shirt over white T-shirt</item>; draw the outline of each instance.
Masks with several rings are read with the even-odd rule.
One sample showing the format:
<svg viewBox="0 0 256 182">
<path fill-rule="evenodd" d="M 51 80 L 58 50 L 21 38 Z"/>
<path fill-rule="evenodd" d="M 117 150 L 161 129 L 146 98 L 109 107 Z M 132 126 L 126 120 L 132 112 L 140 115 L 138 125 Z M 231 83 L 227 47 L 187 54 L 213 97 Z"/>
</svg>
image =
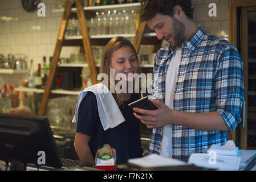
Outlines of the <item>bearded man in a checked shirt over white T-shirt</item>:
<svg viewBox="0 0 256 182">
<path fill-rule="evenodd" d="M 149 154 L 187 161 L 223 145 L 241 120 L 243 63 L 237 49 L 193 22 L 191 0 L 143 1 L 140 20 L 169 44 L 155 57 L 154 111 L 134 115 L 152 130 Z"/>
</svg>

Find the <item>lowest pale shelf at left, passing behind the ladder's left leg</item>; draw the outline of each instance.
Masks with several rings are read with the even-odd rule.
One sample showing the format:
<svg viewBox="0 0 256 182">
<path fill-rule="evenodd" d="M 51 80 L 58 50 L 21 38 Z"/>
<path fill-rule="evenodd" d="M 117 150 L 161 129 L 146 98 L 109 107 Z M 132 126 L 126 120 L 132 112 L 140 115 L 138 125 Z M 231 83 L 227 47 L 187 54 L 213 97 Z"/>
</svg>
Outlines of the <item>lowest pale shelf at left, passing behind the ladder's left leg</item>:
<svg viewBox="0 0 256 182">
<path fill-rule="evenodd" d="M 44 93 L 44 89 L 36 89 L 36 88 L 18 87 L 18 88 L 15 88 L 14 90 L 19 91 L 19 92 Z M 79 96 L 80 92 L 82 92 L 82 90 L 79 90 L 79 91 L 62 90 L 62 89 L 51 90 L 51 93 L 64 94 L 64 95 L 75 95 L 75 96 Z"/>
</svg>

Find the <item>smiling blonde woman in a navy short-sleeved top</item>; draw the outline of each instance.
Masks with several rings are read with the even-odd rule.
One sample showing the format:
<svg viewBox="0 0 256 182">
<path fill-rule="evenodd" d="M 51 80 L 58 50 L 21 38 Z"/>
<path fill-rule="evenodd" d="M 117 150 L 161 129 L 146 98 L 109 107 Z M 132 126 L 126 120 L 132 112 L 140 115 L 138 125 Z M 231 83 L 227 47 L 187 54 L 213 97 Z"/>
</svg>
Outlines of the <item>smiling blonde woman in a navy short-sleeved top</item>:
<svg viewBox="0 0 256 182">
<path fill-rule="evenodd" d="M 115 76 L 124 73 L 124 80 L 128 82 L 128 75 L 138 73 L 138 68 L 137 53 L 129 40 L 118 36 L 108 42 L 101 59 L 100 73 L 110 78 L 110 70 L 115 69 Z M 127 163 L 128 159 L 141 156 L 140 121 L 128 107 L 129 103 L 139 99 L 139 94 L 115 92 L 113 98 L 125 121 L 107 130 L 104 130 L 104 121 L 99 116 L 95 93 L 88 92 L 80 103 L 74 142 L 80 160 L 95 164 L 96 151 L 104 144 L 115 148 L 116 164 Z"/>
</svg>

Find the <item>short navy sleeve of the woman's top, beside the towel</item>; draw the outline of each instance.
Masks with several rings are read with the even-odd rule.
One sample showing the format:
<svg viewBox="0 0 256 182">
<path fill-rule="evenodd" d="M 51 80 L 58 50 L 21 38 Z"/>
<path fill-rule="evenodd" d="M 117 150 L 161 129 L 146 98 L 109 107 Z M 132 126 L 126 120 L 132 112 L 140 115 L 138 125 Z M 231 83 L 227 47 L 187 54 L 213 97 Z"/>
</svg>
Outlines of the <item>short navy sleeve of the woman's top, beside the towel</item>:
<svg viewBox="0 0 256 182">
<path fill-rule="evenodd" d="M 80 132 L 91 137 L 94 133 L 96 118 L 98 115 L 96 96 L 94 93 L 88 92 L 79 107 L 76 132 Z"/>
</svg>

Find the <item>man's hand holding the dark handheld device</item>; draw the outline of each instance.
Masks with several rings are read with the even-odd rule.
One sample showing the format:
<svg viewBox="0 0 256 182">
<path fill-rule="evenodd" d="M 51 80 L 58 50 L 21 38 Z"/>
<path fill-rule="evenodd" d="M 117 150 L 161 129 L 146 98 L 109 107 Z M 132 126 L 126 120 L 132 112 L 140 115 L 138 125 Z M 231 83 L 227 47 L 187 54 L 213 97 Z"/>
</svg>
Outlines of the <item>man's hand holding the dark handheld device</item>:
<svg viewBox="0 0 256 182">
<path fill-rule="evenodd" d="M 159 100 L 151 100 L 154 105 L 157 106 L 156 110 L 145 110 L 140 109 L 138 107 L 133 108 L 133 111 L 136 113 L 144 114 L 139 115 L 133 113 L 136 118 L 140 119 L 140 121 L 147 125 L 148 129 L 153 129 L 156 127 L 164 127 L 170 124 L 170 119 L 172 110 L 169 109 L 164 103 Z"/>
</svg>

